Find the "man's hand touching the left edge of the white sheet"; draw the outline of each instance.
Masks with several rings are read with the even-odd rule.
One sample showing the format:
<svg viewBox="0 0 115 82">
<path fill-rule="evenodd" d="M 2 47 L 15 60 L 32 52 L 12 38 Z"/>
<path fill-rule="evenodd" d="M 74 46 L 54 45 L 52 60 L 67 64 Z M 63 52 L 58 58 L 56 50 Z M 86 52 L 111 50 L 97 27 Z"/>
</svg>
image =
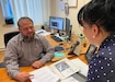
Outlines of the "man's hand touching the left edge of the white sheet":
<svg viewBox="0 0 115 82">
<path fill-rule="evenodd" d="M 20 82 L 25 82 L 30 77 L 33 77 L 33 74 L 27 72 L 19 72 L 15 79 Z"/>
</svg>

